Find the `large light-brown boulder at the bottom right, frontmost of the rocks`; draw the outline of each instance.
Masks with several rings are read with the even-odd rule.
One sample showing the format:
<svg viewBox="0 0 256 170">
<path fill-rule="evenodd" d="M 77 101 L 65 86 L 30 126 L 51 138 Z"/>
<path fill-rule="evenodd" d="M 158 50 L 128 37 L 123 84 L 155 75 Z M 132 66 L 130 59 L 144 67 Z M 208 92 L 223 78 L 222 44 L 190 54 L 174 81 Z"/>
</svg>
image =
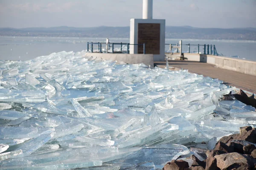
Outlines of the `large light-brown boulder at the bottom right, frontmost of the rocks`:
<svg viewBox="0 0 256 170">
<path fill-rule="evenodd" d="M 223 170 L 231 170 L 239 168 L 239 170 L 247 170 L 254 167 L 256 160 L 251 156 L 242 155 L 240 153 L 225 153 L 214 156 L 217 159 L 217 166 Z M 238 170 L 238 169 L 236 169 Z"/>
</svg>

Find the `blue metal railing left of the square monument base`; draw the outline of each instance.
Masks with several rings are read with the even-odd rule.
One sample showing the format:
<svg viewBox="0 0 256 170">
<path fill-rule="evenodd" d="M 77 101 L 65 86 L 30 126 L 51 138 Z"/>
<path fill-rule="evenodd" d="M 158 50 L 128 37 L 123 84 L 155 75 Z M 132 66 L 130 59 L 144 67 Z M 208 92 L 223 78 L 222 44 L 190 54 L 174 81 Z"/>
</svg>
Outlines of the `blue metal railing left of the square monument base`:
<svg viewBox="0 0 256 170">
<path fill-rule="evenodd" d="M 126 53 L 127 54 L 130 54 L 130 46 L 131 45 L 143 45 L 143 54 L 146 54 L 146 48 L 145 48 L 145 43 L 144 44 L 130 44 L 130 43 L 106 43 L 106 42 L 87 42 L 87 52 L 89 52 L 89 49 L 90 49 L 90 52 L 93 53 L 93 48 L 95 47 L 96 45 L 96 48 L 98 48 L 98 51 L 99 53 L 102 53 L 102 45 L 106 45 L 106 50 L 105 52 L 108 53 L 108 51 L 111 49 L 111 53 L 117 53 L 117 52 L 121 52 L 123 53 L 123 45 L 126 45 L 127 46 L 127 51 Z M 121 48 L 120 48 L 120 51 L 114 51 L 114 46 L 117 46 L 117 45 L 120 45 Z"/>
</svg>

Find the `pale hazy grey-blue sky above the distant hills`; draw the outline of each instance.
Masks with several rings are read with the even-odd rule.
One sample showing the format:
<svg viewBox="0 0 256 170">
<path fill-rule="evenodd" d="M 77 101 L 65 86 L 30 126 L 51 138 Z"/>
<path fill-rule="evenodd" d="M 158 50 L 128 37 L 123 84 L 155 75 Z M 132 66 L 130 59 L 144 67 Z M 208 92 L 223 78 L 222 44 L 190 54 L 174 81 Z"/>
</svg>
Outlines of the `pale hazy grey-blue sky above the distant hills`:
<svg viewBox="0 0 256 170">
<path fill-rule="evenodd" d="M 0 0 L 0 27 L 129 26 L 143 0 Z M 153 0 L 167 26 L 256 28 L 256 0 Z"/>
</svg>

